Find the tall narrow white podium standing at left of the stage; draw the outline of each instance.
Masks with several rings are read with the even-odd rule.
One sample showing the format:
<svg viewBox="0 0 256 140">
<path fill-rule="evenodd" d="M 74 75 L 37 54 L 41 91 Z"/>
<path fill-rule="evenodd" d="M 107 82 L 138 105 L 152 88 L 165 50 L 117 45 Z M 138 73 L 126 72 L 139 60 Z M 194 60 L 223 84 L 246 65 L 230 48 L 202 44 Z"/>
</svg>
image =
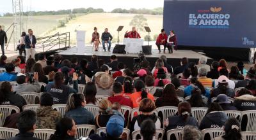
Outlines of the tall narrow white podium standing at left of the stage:
<svg viewBox="0 0 256 140">
<path fill-rule="evenodd" d="M 85 31 L 76 31 L 76 46 L 77 46 L 77 54 L 84 55 Z"/>
</svg>

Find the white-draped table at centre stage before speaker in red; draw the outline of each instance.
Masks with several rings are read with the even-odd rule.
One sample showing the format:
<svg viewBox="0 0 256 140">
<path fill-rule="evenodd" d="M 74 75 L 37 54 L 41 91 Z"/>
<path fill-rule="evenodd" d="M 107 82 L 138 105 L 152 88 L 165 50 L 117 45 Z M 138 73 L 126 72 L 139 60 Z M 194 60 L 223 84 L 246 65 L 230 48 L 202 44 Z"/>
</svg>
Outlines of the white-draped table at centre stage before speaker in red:
<svg viewBox="0 0 256 140">
<path fill-rule="evenodd" d="M 142 52 L 143 39 L 124 38 L 126 53 L 140 53 Z"/>
</svg>

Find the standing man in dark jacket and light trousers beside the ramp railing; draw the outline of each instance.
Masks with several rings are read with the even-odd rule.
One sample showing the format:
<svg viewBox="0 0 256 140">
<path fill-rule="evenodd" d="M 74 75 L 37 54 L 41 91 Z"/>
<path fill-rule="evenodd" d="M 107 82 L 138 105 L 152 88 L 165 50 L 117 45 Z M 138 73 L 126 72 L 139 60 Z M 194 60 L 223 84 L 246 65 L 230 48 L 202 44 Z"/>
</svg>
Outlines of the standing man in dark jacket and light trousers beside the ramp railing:
<svg viewBox="0 0 256 140">
<path fill-rule="evenodd" d="M 36 37 L 33 35 L 32 29 L 28 29 L 28 34 L 25 36 L 26 60 L 28 60 L 29 57 L 35 59 L 35 45 Z"/>
</svg>

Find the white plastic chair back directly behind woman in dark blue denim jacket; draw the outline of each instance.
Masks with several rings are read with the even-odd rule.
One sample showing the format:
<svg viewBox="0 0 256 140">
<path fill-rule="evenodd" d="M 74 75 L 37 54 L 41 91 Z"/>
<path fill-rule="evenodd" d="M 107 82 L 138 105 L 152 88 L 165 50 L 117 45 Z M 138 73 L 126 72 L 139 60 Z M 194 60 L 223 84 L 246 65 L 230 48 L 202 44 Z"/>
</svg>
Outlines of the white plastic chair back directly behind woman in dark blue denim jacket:
<svg viewBox="0 0 256 140">
<path fill-rule="evenodd" d="M 75 136 L 76 139 L 79 139 L 79 137 L 81 136 L 88 137 L 89 134 L 96 134 L 95 125 L 76 125 L 76 127 L 77 127 L 77 135 Z"/>
</svg>

